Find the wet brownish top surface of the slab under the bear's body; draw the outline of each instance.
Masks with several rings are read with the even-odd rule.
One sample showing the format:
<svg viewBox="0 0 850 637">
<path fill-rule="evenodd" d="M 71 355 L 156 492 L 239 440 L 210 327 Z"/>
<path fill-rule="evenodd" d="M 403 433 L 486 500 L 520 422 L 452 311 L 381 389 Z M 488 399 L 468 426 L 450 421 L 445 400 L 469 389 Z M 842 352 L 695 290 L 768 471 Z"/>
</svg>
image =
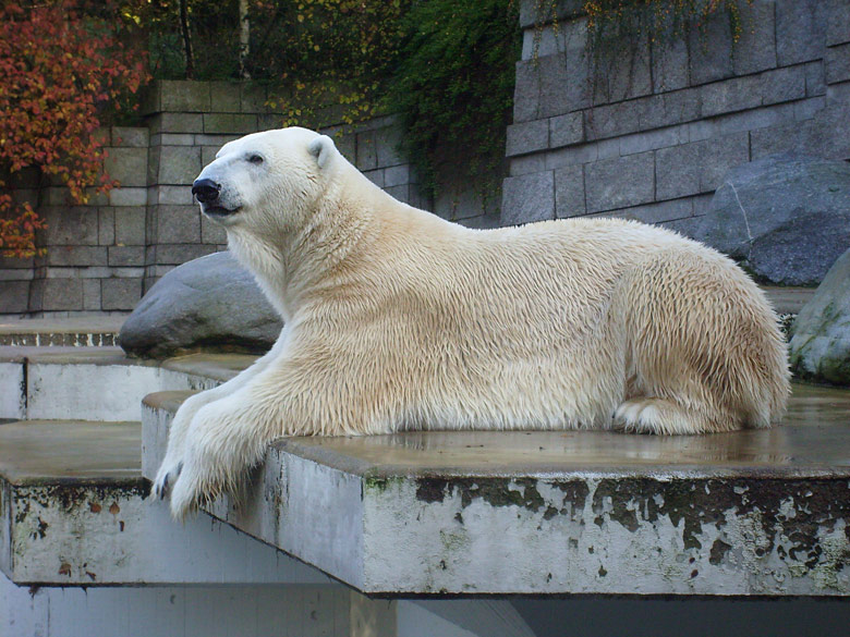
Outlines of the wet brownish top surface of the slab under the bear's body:
<svg viewBox="0 0 850 637">
<path fill-rule="evenodd" d="M 850 475 L 850 391 L 794 384 L 779 427 L 708 436 L 614 431 L 410 431 L 277 444 L 363 474 L 658 473 Z"/>
</svg>

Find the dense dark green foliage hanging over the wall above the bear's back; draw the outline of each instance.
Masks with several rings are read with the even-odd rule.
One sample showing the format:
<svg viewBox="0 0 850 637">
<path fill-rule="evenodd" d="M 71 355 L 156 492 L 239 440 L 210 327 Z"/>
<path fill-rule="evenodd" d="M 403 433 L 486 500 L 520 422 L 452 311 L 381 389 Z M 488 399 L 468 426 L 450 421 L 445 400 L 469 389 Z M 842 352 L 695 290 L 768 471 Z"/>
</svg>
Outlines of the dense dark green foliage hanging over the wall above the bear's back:
<svg viewBox="0 0 850 637">
<path fill-rule="evenodd" d="M 432 194 L 447 167 L 460 167 L 460 179 L 484 191 L 501 182 L 521 47 L 518 12 L 510 0 L 430 0 L 405 19 L 384 105 L 401 117 L 403 150 Z"/>
</svg>

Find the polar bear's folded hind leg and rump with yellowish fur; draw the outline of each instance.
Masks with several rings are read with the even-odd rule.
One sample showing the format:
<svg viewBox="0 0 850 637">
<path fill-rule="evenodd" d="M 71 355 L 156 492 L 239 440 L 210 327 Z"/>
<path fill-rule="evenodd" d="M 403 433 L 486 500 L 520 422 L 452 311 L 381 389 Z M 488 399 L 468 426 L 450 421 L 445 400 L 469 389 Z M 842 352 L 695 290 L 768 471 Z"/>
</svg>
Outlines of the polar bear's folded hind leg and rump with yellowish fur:
<svg viewBox="0 0 850 637">
<path fill-rule="evenodd" d="M 663 434 L 769 427 L 789 391 L 775 315 L 731 261 L 682 247 L 636 264 L 616 292 L 633 381 L 612 426 Z"/>
</svg>

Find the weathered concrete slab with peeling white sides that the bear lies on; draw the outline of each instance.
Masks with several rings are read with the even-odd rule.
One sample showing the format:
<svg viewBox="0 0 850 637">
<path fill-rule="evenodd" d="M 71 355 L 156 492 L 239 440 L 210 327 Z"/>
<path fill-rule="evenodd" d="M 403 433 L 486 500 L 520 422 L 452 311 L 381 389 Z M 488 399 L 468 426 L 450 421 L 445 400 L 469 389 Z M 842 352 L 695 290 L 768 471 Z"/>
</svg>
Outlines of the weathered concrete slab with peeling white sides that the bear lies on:
<svg viewBox="0 0 850 637">
<path fill-rule="evenodd" d="M 146 455 L 180 400 L 146 399 Z M 704 437 L 284 439 L 209 513 L 367 593 L 846 596 L 850 393 Z"/>
</svg>

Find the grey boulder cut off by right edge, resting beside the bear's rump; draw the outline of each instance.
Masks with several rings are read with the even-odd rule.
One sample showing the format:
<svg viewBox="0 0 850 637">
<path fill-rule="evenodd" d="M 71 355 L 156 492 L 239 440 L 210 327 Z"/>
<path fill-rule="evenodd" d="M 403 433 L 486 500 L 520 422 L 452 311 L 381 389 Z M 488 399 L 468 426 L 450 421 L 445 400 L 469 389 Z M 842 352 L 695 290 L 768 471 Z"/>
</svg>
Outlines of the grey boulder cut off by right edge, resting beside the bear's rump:
<svg viewBox="0 0 850 637">
<path fill-rule="evenodd" d="M 850 385 L 850 250 L 800 310 L 792 333 L 791 367 L 798 376 Z"/>
</svg>

